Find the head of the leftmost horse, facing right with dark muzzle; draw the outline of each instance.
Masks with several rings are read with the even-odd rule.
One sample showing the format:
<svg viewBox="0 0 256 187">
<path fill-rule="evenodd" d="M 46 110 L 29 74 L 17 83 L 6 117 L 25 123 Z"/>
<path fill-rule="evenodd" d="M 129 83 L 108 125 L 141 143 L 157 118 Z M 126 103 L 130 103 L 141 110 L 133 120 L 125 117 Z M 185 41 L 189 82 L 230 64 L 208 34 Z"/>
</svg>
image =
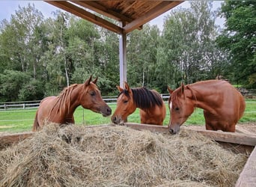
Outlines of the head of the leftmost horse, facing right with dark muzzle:
<svg viewBox="0 0 256 187">
<path fill-rule="evenodd" d="M 92 76 L 90 76 L 90 78 L 85 81 L 79 99 L 83 108 L 103 114 L 103 116 L 106 117 L 111 115 L 112 109 L 103 101 L 100 90 L 96 85 L 97 79 L 98 78 L 92 81 Z"/>
</svg>

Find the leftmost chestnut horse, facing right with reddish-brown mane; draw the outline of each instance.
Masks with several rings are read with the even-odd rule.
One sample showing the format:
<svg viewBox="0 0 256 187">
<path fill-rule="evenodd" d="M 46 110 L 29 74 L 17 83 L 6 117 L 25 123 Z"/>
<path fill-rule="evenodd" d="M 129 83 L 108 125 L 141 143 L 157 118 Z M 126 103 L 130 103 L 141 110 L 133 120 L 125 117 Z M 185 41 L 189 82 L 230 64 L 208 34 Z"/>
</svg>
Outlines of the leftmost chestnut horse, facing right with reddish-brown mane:
<svg viewBox="0 0 256 187">
<path fill-rule="evenodd" d="M 79 105 L 91 111 L 101 113 L 104 117 L 112 113 L 103 101 L 96 85 L 97 78 L 91 77 L 84 84 L 74 84 L 65 88 L 59 96 L 48 96 L 40 102 L 34 118 L 32 131 L 40 129 L 44 123 L 75 123 L 73 113 Z"/>
</svg>

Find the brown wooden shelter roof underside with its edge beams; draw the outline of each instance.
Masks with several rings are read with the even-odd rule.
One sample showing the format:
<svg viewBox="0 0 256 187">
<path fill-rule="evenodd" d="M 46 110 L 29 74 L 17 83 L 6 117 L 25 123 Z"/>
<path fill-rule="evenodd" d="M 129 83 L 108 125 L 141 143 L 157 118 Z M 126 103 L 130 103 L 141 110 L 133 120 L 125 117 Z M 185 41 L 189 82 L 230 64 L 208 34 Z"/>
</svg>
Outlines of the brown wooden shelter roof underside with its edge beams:
<svg viewBox="0 0 256 187">
<path fill-rule="evenodd" d="M 127 34 L 151 19 L 176 7 L 183 1 L 112 0 L 112 1 L 46 1 L 62 10 L 87 19 L 118 34 Z M 100 16 L 103 15 L 103 16 Z M 114 19 L 109 21 L 106 17 Z"/>
</svg>

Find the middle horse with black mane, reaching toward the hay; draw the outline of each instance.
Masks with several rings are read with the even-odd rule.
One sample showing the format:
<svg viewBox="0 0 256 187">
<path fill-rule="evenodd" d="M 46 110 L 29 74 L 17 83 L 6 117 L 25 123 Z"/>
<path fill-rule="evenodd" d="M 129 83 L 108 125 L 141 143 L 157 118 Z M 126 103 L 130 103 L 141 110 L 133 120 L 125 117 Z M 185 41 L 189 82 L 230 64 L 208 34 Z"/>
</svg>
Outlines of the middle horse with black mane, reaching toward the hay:
<svg viewBox="0 0 256 187">
<path fill-rule="evenodd" d="M 132 114 L 136 108 L 140 108 L 141 123 L 162 126 L 166 107 L 159 93 L 147 88 L 129 88 L 127 82 L 124 82 L 124 85 L 125 89 L 117 86 L 120 93 L 112 122 L 124 123 L 129 114 Z"/>
</svg>

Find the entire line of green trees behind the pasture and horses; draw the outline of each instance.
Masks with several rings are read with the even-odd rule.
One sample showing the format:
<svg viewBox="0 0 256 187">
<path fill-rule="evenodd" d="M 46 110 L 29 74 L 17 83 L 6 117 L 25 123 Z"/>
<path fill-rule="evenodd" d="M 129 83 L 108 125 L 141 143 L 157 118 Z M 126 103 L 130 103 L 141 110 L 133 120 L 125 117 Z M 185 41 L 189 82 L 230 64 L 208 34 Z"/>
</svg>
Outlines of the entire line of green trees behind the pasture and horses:
<svg viewBox="0 0 256 187">
<path fill-rule="evenodd" d="M 191 1 L 171 10 L 163 30 L 144 25 L 127 35 L 127 81 L 167 93 L 205 79 L 256 88 L 255 1 Z M 216 16 L 225 17 L 225 28 Z M 45 19 L 34 4 L 0 26 L 0 102 L 43 99 L 98 76 L 103 96 L 117 95 L 118 34 L 56 10 Z"/>
</svg>

